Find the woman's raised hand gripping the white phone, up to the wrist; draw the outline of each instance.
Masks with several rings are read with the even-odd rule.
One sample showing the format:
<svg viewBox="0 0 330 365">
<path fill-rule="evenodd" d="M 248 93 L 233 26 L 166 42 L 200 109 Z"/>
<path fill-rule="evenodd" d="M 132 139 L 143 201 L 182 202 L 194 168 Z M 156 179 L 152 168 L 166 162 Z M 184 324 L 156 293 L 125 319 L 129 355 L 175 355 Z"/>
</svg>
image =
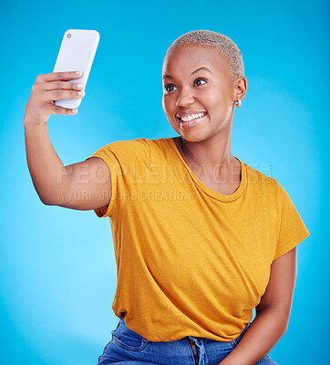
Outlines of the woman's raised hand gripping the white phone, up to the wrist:
<svg viewBox="0 0 330 365">
<path fill-rule="evenodd" d="M 77 110 L 62 108 L 54 104 L 54 100 L 84 98 L 85 85 L 81 82 L 67 81 L 81 78 L 81 72 L 80 74 L 76 74 L 76 72 L 53 72 L 36 77 L 26 105 L 25 125 L 46 123 L 51 114 L 77 114 Z M 79 84 L 82 86 L 79 87 Z"/>
</svg>

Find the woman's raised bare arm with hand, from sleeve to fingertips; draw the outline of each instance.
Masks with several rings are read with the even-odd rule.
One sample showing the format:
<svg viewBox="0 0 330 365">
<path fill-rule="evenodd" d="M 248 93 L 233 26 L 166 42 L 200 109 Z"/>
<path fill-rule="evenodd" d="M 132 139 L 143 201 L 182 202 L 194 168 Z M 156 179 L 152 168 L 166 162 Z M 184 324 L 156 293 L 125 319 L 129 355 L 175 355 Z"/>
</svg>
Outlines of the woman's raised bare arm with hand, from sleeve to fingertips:
<svg viewBox="0 0 330 365">
<path fill-rule="evenodd" d="M 106 206 L 111 198 L 108 165 L 93 157 L 84 162 L 64 166 L 52 146 L 47 120 L 50 114 L 74 115 L 72 110 L 54 105 L 56 99 L 82 98 L 78 95 L 73 72 L 39 75 L 26 106 L 24 128 L 26 160 L 40 200 L 77 210 Z"/>
</svg>

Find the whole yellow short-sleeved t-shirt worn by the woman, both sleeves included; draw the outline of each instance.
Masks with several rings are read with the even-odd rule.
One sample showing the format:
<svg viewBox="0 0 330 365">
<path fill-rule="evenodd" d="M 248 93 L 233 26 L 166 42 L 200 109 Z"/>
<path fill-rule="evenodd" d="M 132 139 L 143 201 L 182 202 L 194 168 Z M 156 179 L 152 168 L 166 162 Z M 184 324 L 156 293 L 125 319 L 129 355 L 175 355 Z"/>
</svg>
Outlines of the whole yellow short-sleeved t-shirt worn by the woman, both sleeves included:
<svg viewBox="0 0 330 365">
<path fill-rule="evenodd" d="M 284 188 L 243 163 L 231 195 L 201 183 L 171 138 L 115 141 L 108 164 L 117 263 L 112 308 L 151 341 L 232 341 L 253 317 L 274 259 L 309 234 Z"/>
</svg>

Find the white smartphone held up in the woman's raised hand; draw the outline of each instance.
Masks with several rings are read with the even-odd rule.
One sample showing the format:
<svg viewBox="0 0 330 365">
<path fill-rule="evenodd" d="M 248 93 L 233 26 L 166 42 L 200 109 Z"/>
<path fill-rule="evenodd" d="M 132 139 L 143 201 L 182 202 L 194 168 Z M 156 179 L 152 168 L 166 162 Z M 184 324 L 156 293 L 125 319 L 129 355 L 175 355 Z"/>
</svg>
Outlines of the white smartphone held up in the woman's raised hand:
<svg viewBox="0 0 330 365">
<path fill-rule="evenodd" d="M 53 72 L 82 71 L 80 78 L 73 78 L 66 82 L 83 82 L 85 90 L 89 71 L 97 52 L 98 41 L 97 30 L 68 29 L 63 36 Z M 60 99 L 54 102 L 55 105 L 67 109 L 76 109 L 80 103 L 81 99 Z"/>
</svg>

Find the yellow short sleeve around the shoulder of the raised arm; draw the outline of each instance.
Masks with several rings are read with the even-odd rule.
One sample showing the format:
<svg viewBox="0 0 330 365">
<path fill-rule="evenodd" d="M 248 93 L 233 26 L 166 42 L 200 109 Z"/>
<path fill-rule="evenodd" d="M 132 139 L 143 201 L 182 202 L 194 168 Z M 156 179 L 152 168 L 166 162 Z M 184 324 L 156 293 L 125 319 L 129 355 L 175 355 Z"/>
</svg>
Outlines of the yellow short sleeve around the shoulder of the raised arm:
<svg viewBox="0 0 330 365">
<path fill-rule="evenodd" d="M 130 141 L 114 141 L 101 147 L 86 160 L 98 157 L 108 165 L 111 178 L 111 197 L 108 205 L 94 209 L 99 218 L 111 217 L 115 208 L 120 209 L 123 204 L 124 189 L 132 183 L 132 175 L 136 173 L 137 166 L 150 162 L 150 147 L 148 140 L 141 138 Z M 86 161 L 85 160 L 85 161 Z"/>
</svg>

